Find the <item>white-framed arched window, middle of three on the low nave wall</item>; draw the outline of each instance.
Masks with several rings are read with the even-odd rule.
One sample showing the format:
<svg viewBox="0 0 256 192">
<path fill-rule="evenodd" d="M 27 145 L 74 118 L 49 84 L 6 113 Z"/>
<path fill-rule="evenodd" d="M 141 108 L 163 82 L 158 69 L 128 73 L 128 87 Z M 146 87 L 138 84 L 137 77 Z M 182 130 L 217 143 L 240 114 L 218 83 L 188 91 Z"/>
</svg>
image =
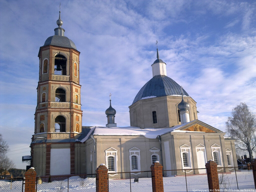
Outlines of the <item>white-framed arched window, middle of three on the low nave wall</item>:
<svg viewBox="0 0 256 192">
<path fill-rule="evenodd" d="M 130 170 L 133 171 L 140 171 L 141 165 L 140 165 L 140 149 L 137 147 L 133 147 L 129 150 L 129 158 L 130 158 Z"/>
</svg>

